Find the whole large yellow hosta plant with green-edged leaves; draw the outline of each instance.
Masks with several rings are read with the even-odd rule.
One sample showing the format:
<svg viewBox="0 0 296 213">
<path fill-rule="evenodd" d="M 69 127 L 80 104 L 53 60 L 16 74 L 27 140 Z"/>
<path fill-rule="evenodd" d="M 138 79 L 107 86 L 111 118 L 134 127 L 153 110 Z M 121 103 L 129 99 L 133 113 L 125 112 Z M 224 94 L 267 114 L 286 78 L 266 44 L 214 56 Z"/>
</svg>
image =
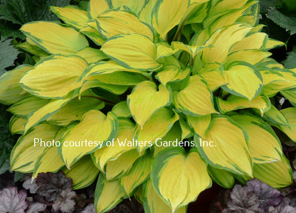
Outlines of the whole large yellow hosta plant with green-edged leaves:
<svg viewBox="0 0 296 213">
<path fill-rule="evenodd" d="M 278 128 L 296 142 L 296 69 L 268 49 L 253 0 L 90 0 L 52 7 L 63 23 L 21 27 L 36 65 L 1 76 L 12 170 L 98 176 L 97 212 L 136 197 L 186 212 L 212 181 L 293 182 Z M 271 127 L 273 126 L 273 128 Z"/>
</svg>

